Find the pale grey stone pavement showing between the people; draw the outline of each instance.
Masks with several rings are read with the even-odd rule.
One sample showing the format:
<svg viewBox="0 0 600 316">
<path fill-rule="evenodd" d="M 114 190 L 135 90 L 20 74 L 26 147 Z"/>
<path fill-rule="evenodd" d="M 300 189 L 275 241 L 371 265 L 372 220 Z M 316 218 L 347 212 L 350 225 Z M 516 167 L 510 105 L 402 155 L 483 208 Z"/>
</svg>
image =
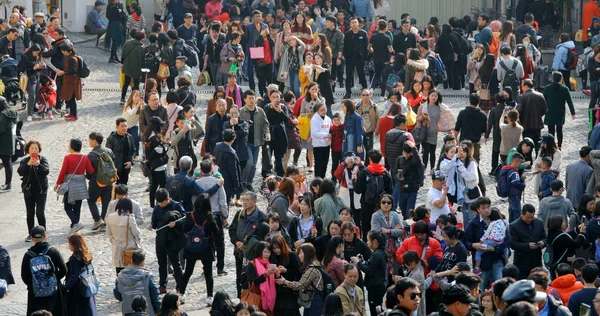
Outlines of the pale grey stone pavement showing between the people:
<svg viewBox="0 0 600 316">
<path fill-rule="evenodd" d="M 50 162 L 49 181 L 55 183 L 59 169 L 62 164 L 64 155 L 67 154 L 67 144 L 69 139 L 77 137 L 84 141 L 83 152 L 90 151 L 87 145 L 88 134 L 92 131 L 101 132 L 107 137 L 114 130 L 114 122 L 121 114 L 121 106 L 119 105 L 120 93 L 117 82 L 118 65 L 108 64 L 109 53 L 93 47 L 93 43 L 84 43 L 76 46 L 77 51 L 86 59 L 89 64 L 92 74 L 86 80 L 84 100 L 79 102 L 80 119 L 77 122 L 66 122 L 59 118 L 54 121 L 44 120 L 32 123 L 25 123 L 23 135 L 26 140 L 38 140 L 42 143 L 42 155 L 48 158 Z M 195 69 L 197 74 L 197 69 Z M 207 92 L 212 91 L 212 87 L 201 87 L 200 90 Z M 339 90 L 338 90 L 339 92 Z M 445 91 L 442 91 L 444 93 Z M 464 95 L 464 92 L 462 93 Z M 197 113 L 204 116 L 206 111 L 206 100 L 212 97 L 210 94 L 199 95 L 199 104 Z M 467 99 L 461 98 L 445 98 L 445 103 L 452 109 L 455 115 L 458 111 L 467 105 Z M 586 143 L 587 140 L 587 101 L 585 99 L 576 100 L 577 119 L 571 121 L 567 119 L 565 126 L 565 143 L 563 144 L 563 161 L 561 165 L 561 179 L 564 179 L 564 170 L 567 164 L 578 159 L 579 148 Z M 334 106 L 334 112 L 341 112 L 339 104 Z M 23 116 L 23 113 L 21 113 Z M 200 118 L 204 121 L 204 117 Z M 439 137 L 440 141 L 442 136 Z M 376 147 L 379 147 L 379 141 L 375 141 Z M 439 146 L 438 146 L 439 147 Z M 488 187 L 487 194 L 494 201 L 494 206 L 498 206 L 503 212 L 507 211 L 507 204 L 498 203 L 494 190 L 493 179 L 487 176 L 490 170 L 490 154 L 491 140 L 487 145 L 482 145 L 481 149 L 481 164 L 482 173 L 486 177 Z M 438 148 L 439 153 L 439 148 Z M 301 167 L 304 167 L 305 160 L 300 159 Z M 21 194 L 19 178 L 16 174 L 13 180 L 13 191 L 0 195 L 0 201 L 5 206 L 0 207 L 2 219 L 0 220 L 0 244 L 7 247 L 12 260 L 12 268 L 17 284 L 9 287 L 9 294 L 4 299 L 0 300 L 0 315 L 24 315 L 26 311 L 27 292 L 26 287 L 21 281 L 21 261 L 23 254 L 31 247 L 31 243 L 25 243 L 24 238 L 27 236 L 27 226 L 25 222 L 25 205 L 23 195 Z M 304 169 L 301 169 L 304 170 Z M 328 168 L 328 173 L 331 168 Z M 307 177 L 310 181 L 311 174 Z M 0 172 L 0 181 L 4 181 L 4 173 Z M 254 187 L 260 186 L 260 173 L 254 181 Z M 145 224 L 149 223 L 151 209 L 148 208 L 148 194 L 144 192 L 147 181 L 141 176 L 139 167 L 136 165 L 133 168 L 130 176 L 130 192 L 131 197 L 140 202 L 144 208 Z M 530 184 L 531 182 L 528 182 Z M 424 203 L 424 196 L 427 188 L 431 185 L 431 181 L 426 179 L 425 186 L 421 189 L 418 203 Z M 537 206 L 537 198 L 532 194 L 532 188 L 528 186 L 525 197 L 527 203 L 532 203 Z M 266 200 L 263 197 L 259 198 L 259 208 L 266 209 Z M 235 209 L 237 211 L 237 208 Z M 231 217 L 235 212 L 231 212 Z M 91 232 L 89 230 L 92 225 L 92 218 L 89 215 L 89 207 L 87 202 L 82 206 L 81 222 L 85 228 L 81 233 L 85 237 L 90 251 L 94 255 L 94 266 L 97 270 L 99 280 L 101 281 L 100 293 L 96 298 L 97 308 L 100 315 L 119 315 L 121 306 L 113 298 L 112 289 L 114 286 L 115 272 L 111 265 L 111 248 L 110 243 L 104 232 Z M 48 194 L 48 202 L 46 209 L 47 226 L 48 226 L 48 241 L 57 247 L 63 254 L 65 261 L 70 256 L 66 238 L 69 232 L 69 220 L 64 213 L 62 203 L 60 203 L 55 193 Z M 231 220 L 231 219 L 230 219 Z M 158 264 L 154 252 L 154 232 L 142 230 L 142 246 L 146 250 L 147 259 L 146 267 L 149 268 L 155 275 L 158 281 Z M 226 237 L 226 269 L 229 275 L 223 277 L 215 277 L 215 292 L 226 291 L 231 296 L 235 296 L 235 264 L 232 256 L 232 245 Z M 216 269 L 215 269 L 216 270 Z M 208 309 L 205 306 L 206 290 L 204 278 L 201 276 L 202 269 L 200 264 L 196 267 L 195 273 L 190 280 L 186 293 L 186 304 L 182 306 L 182 310 L 190 313 L 190 315 L 207 315 Z M 216 271 L 214 271 L 216 275 Z M 174 291 L 174 279 L 169 277 L 168 290 Z"/>
</svg>

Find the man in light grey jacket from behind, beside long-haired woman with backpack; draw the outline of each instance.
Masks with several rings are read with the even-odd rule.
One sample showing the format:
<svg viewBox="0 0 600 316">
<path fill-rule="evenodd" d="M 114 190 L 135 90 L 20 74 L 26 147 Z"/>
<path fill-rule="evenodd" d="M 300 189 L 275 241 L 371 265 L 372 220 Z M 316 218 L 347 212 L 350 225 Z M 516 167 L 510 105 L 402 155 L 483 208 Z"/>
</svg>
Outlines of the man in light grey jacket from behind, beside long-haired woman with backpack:
<svg viewBox="0 0 600 316">
<path fill-rule="evenodd" d="M 200 163 L 200 178 L 196 180 L 196 184 L 203 190 L 208 190 L 215 184 L 219 183 L 213 175 L 213 163 L 207 159 Z M 227 195 L 225 189 L 220 186 L 216 194 L 210 197 L 210 205 L 217 227 L 223 230 L 223 227 L 229 225 L 227 218 L 229 217 L 229 208 L 227 207 Z M 217 248 L 217 275 L 227 275 L 225 271 L 225 236 L 224 232 L 220 235 L 221 238 L 215 240 Z"/>
</svg>

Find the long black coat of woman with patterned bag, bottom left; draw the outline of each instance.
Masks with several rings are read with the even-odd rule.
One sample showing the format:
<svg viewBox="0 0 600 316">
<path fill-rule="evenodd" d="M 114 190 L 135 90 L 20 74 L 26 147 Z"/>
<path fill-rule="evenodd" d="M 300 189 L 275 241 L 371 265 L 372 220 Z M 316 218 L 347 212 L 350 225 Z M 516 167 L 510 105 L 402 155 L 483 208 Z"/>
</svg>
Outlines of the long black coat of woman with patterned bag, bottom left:
<svg viewBox="0 0 600 316">
<path fill-rule="evenodd" d="M 96 316 L 96 297 L 85 297 L 81 295 L 80 278 L 84 262 L 71 256 L 67 261 L 67 275 L 65 276 L 65 301 L 68 315 Z"/>
</svg>

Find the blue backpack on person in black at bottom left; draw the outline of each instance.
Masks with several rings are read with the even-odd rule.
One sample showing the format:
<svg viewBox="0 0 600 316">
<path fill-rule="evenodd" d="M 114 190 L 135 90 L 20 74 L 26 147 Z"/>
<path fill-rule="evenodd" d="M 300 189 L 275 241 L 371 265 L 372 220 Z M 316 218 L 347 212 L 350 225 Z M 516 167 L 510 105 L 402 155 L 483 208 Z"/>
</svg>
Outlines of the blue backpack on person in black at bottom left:
<svg viewBox="0 0 600 316">
<path fill-rule="evenodd" d="M 34 297 L 50 297 L 58 289 L 58 281 L 54 273 L 54 263 L 47 255 L 48 249 L 50 247 L 39 254 L 31 250 L 27 252 L 31 256 L 29 269 L 31 270 Z"/>
</svg>

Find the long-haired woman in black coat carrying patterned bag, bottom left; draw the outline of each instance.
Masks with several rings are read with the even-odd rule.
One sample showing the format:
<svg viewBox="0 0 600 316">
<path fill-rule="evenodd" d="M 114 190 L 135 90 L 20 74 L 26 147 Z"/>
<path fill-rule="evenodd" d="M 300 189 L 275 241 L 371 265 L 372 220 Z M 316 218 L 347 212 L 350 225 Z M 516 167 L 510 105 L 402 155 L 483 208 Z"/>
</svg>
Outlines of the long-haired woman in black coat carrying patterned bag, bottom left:
<svg viewBox="0 0 600 316">
<path fill-rule="evenodd" d="M 66 306 L 68 315 L 96 316 L 96 297 L 85 297 L 81 294 L 80 274 L 83 268 L 92 268 L 92 254 L 80 233 L 67 238 L 69 250 L 73 253 L 67 261 L 65 276 Z"/>
</svg>

